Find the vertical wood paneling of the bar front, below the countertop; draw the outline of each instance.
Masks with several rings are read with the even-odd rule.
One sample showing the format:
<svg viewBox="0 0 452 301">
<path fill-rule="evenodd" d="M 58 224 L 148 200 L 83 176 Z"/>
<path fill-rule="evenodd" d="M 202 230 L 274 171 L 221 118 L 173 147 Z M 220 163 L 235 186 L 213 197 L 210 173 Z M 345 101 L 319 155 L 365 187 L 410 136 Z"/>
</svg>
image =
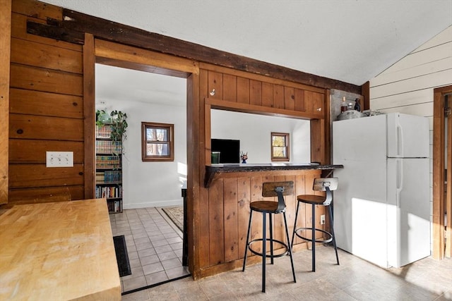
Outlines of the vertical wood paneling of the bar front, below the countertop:
<svg viewBox="0 0 452 301">
<path fill-rule="evenodd" d="M 201 229 L 199 236 L 199 277 L 210 276 L 219 271 L 235 269 L 243 264 L 242 259 L 245 252 L 246 231 L 249 222 L 249 203 L 258 200 L 274 200 L 276 198 L 262 197 L 262 183 L 273 181 L 294 181 L 294 195 L 285 197 L 287 204 L 287 223 L 289 226 L 290 238 L 295 222 L 295 209 L 297 208 L 297 195 L 312 194 L 319 195 L 321 192 L 314 192 L 312 184 L 314 178 L 319 177 L 320 171 L 282 171 L 282 172 L 252 172 L 227 174 L 225 178 L 215 178 L 209 189 L 203 190 L 203 197 L 200 199 L 200 208 L 203 214 L 199 216 L 199 226 Z M 320 221 L 320 216 L 326 214 L 323 207 L 316 210 L 316 221 Z M 310 227 L 312 225 L 311 207 L 300 204 L 297 227 Z M 286 241 L 284 234 L 283 215 L 274 216 L 275 238 Z M 317 228 L 326 229 L 329 225 L 320 225 Z M 304 233 L 310 237 L 309 233 Z M 317 238 L 321 238 L 321 233 L 317 233 Z M 251 224 L 251 240 L 262 237 L 262 214 L 254 212 Z M 296 237 L 294 250 L 307 247 L 307 242 Z M 258 244 L 255 250 L 260 250 Z M 249 255 L 252 255 L 249 252 Z M 256 262 L 258 258 L 250 257 L 249 263 Z"/>
</svg>

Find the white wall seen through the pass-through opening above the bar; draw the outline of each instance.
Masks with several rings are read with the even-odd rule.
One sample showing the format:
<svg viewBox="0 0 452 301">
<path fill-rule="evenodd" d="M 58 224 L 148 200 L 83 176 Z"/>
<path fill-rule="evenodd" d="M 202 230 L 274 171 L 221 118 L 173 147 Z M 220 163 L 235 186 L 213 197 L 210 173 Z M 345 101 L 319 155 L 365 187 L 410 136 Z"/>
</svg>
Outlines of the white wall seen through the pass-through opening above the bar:
<svg viewBox="0 0 452 301">
<path fill-rule="evenodd" d="M 215 109 L 210 114 L 211 137 L 240 140 L 240 149 L 248 153 L 246 163 L 271 162 L 271 132 L 290 134 L 290 162 L 311 161 L 309 121 Z"/>
</svg>

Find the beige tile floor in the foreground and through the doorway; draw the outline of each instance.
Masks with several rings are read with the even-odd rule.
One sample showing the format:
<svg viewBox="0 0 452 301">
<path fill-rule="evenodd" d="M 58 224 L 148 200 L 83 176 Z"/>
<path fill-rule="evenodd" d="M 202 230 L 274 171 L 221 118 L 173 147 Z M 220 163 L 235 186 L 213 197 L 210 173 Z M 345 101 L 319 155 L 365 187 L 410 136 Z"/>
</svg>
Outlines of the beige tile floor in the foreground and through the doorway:
<svg viewBox="0 0 452 301">
<path fill-rule="evenodd" d="M 178 265 L 182 261 L 182 233 L 174 231 L 174 225 L 168 226 L 155 208 L 124 212 L 113 215 L 112 229 L 126 233 L 133 265 L 139 259 L 146 267 L 135 267 L 133 276 L 122 278 L 123 291 L 189 274 L 186 267 Z M 174 232 L 169 232 L 170 228 Z M 144 233 L 151 244 L 159 242 L 137 251 L 136 242 L 138 248 L 145 243 L 141 240 Z M 123 300 L 452 300 L 452 259 L 425 258 L 400 269 L 382 269 L 342 250 L 337 265 L 332 247 L 317 247 L 316 272 L 312 272 L 310 250 L 295 252 L 293 257 L 297 283 L 293 282 L 289 257 L 277 258 L 273 266 L 266 266 L 266 293 L 261 292 L 262 265 L 254 264 L 246 266 L 244 272 L 236 269 L 198 281 L 182 278 L 124 295 Z M 152 264 L 160 264 L 162 270 L 153 269 Z"/>
</svg>

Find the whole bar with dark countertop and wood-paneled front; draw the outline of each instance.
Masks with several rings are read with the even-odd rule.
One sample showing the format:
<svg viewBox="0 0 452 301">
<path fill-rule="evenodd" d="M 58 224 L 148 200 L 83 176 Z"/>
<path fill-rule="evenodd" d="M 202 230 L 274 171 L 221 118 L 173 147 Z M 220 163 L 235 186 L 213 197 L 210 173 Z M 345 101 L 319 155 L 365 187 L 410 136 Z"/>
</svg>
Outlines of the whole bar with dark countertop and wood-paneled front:
<svg viewBox="0 0 452 301">
<path fill-rule="evenodd" d="M 200 216 L 201 277 L 217 274 L 220 271 L 237 269 L 243 264 L 246 244 L 246 230 L 249 221 L 249 203 L 264 199 L 262 183 L 272 181 L 294 182 L 294 195 L 287 195 L 287 223 L 293 231 L 297 195 L 321 195 L 323 192 L 312 189 L 314 178 L 329 176 L 335 168 L 342 165 L 319 164 L 212 164 L 206 166 L 205 185 L 208 187 L 208 202 L 204 204 Z M 266 198 L 274 199 L 275 198 Z M 323 208 L 316 211 L 316 221 L 322 214 L 328 214 Z M 311 209 L 302 204 L 299 209 L 298 227 L 311 226 Z M 327 221 L 329 219 L 326 219 Z M 283 217 L 275 216 L 275 238 L 285 241 Z M 316 225 L 327 230 L 329 224 Z M 251 225 L 251 239 L 262 236 L 262 219 L 254 219 Z M 321 233 L 319 233 L 319 238 Z M 307 247 L 307 242 L 296 238 L 294 251 Z M 261 260 L 251 256 L 248 264 Z"/>
</svg>

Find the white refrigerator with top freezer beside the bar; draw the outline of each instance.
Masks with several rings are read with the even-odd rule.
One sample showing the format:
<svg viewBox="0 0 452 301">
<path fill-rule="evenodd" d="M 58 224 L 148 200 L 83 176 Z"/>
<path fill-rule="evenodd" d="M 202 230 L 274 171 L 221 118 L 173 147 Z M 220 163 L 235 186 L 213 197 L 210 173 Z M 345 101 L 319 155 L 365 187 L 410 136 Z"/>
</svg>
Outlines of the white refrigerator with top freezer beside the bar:
<svg viewBox="0 0 452 301">
<path fill-rule="evenodd" d="M 430 255 L 429 121 L 402 113 L 333 122 L 338 247 L 400 267 Z"/>
</svg>

